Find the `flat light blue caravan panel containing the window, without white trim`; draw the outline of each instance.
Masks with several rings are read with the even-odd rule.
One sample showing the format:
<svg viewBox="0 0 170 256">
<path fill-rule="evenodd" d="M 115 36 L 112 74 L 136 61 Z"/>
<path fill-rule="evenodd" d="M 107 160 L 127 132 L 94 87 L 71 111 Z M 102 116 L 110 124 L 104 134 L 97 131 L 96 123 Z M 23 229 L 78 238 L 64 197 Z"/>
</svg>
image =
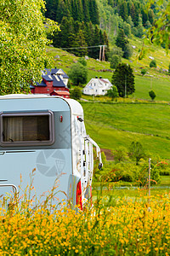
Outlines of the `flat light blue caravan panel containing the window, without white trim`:
<svg viewBox="0 0 170 256">
<path fill-rule="evenodd" d="M 18 188 L 21 179 L 21 187 L 24 189 L 30 183 L 32 170 L 36 170 L 33 184 L 37 196 L 51 189 L 57 182 L 58 189 L 56 191 L 59 192 L 56 194 L 56 198 L 61 201 L 71 197 L 68 195 L 69 188 L 72 186 L 71 109 L 69 104 L 64 99 L 57 97 L 4 97 L 4 99 L 1 97 L 0 112 L 0 184 L 14 184 Z M 54 125 L 54 127 L 49 128 L 49 132 L 53 132 L 52 135 L 49 135 L 52 137 L 50 143 L 46 143 L 48 138 L 38 138 L 35 142 L 36 139 L 32 138 L 29 141 L 29 137 L 25 143 L 23 139 L 17 138 L 16 134 L 15 137 L 9 136 L 12 131 L 3 131 L 6 130 L 7 122 L 12 124 L 14 121 L 13 127 L 17 128 L 18 116 L 22 125 L 25 125 L 25 130 L 31 131 L 31 118 L 29 118 L 30 121 L 27 122 L 26 128 L 27 117 L 33 115 L 36 118 L 37 115 L 43 113 L 53 113 L 52 126 Z M 24 121 L 22 121 L 23 119 Z M 37 129 L 35 125 L 32 127 L 32 129 Z M 12 130 L 14 131 L 14 129 Z M 4 132 L 7 132 L 6 139 Z M 12 135 L 14 136 L 14 134 Z M 0 187 L 0 195 L 5 195 L 10 190 L 11 187 Z"/>
</svg>

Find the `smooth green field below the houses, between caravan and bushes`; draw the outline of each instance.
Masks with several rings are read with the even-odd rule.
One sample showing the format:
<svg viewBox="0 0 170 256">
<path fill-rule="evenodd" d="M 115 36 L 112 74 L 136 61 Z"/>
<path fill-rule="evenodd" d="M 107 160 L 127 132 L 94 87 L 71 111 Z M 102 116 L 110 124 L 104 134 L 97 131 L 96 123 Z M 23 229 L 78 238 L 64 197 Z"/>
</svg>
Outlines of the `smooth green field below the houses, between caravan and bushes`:
<svg viewBox="0 0 170 256">
<path fill-rule="evenodd" d="M 101 148 L 128 148 L 139 141 L 151 154 L 170 159 L 168 104 L 81 103 L 88 134 Z"/>
</svg>

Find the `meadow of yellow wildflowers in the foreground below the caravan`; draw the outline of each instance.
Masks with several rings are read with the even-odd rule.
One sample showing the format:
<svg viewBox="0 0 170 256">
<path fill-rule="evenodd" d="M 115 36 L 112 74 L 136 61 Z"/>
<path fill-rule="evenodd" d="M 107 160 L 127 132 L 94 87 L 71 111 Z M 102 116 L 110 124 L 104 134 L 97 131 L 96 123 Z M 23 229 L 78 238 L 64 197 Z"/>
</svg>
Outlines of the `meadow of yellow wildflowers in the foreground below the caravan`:
<svg viewBox="0 0 170 256">
<path fill-rule="evenodd" d="M 170 194 L 98 195 L 83 211 L 53 205 L 54 190 L 36 206 L 27 194 L 11 197 L 8 208 L 2 201 L 0 255 L 170 255 Z"/>
</svg>

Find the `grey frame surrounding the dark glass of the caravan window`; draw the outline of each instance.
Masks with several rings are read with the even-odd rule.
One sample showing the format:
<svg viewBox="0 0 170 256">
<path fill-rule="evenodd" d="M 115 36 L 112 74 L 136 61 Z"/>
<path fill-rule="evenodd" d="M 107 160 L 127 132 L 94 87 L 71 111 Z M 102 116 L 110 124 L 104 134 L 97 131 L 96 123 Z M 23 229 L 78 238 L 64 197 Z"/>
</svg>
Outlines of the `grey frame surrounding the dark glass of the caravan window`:
<svg viewBox="0 0 170 256">
<path fill-rule="evenodd" d="M 37 117 L 37 116 L 48 116 L 48 140 L 27 140 L 27 141 L 4 141 L 3 140 L 3 118 L 12 117 Z M 0 146 L 2 147 L 17 147 L 17 146 L 42 146 L 54 144 L 54 113 L 50 110 L 42 112 L 3 112 L 0 114 Z"/>
</svg>

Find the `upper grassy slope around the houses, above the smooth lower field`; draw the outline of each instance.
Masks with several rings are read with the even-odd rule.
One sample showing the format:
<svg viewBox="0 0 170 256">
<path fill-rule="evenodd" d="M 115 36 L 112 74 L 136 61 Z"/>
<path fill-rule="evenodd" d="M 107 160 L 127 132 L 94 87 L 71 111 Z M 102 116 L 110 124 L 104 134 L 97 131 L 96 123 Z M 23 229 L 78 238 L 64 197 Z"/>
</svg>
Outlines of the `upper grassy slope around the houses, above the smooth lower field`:
<svg viewBox="0 0 170 256">
<path fill-rule="evenodd" d="M 130 44 L 136 48 L 133 50 L 133 56 L 130 60 L 122 59 L 122 62 L 126 62 L 133 67 L 133 73 L 135 75 L 135 93 L 133 98 L 149 100 L 149 90 L 154 90 L 156 93 L 156 101 L 170 101 L 169 84 L 170 77 L 167 75 L 170 64 L 170 56 L 166 54 L 164 49 L 156 46 L 147 45 L 144 47 L 145 56 L 139 61 L 139 52 L 142 49 L 143 42 L 141 39 L 133 38 L 130 40 Z M 78 57 L 71 55 L 62 49 L 55 49 L 54 47 L 48 47 L 48 55 L 52 57 L 54 67 L 61 67 L 68 73 L 71 65 L 77 61 Z M 156 60 L 157 67 L 150 68 L 150 57 Z M 142 77 L 141 69 L 145 68 L 147 73 Z M 88 60 L 88 81 L 95 76 L 101 76 L 111 80 L 113 70 L 111 70 L 110 62 L 96 61 L 89 58 Z"/>
</svg>

